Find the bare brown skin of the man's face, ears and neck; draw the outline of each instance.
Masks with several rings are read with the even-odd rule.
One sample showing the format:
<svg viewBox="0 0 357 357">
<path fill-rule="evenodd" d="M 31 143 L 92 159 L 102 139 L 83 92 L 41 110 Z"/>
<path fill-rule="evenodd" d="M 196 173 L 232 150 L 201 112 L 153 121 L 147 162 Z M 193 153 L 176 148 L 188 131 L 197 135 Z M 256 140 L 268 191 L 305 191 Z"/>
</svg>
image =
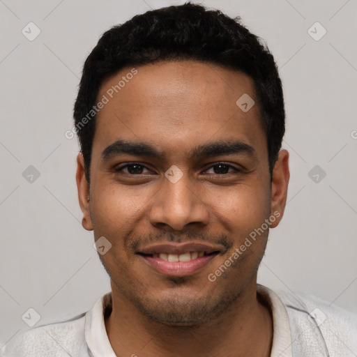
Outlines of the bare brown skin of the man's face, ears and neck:
<svg viewBox="0 0 357 357">
<path fill-rule="evenodd" d="M 107 79 L 98 98 L 130 69 Z M 270 356 L 271 311 L 257 296 L 268 229 L 215 282 L 207 277 L 274 212 L 280 217 L 271 227 L 279 224 L 289 153 L 280 151 L 271 181 L 254 84 L 247 75 L 198 61 L 137 70 L 96 119 L 90 188 L 82 154 L 77 157 L 82 225 L 96 239 L 105 236 L 112 243 L 100 255 L 111 278 L 113 308 L 105 326 L 112 348 L 117 356 Z M 255 100 L 248 112 L 236 105 L 243 93 Z M 151 144 L 164 155 L 102 160 L 102 151 L 118 139 Z M 193 147 L 220 140 L 239 140 L 255 153 L 190 158 Z M 115 171 L 130 162 L 144 167 Z M 220 162 L 231 167 L 220 171 L 214 166 Z M 172 165 L 183 173 L 177 183 L 165 177 Z M 135 247 L 148 243 L 192 240 L 224 243 L 225 249 L 184 278 L 158 273 L 135 254 Z"/>
</svg>

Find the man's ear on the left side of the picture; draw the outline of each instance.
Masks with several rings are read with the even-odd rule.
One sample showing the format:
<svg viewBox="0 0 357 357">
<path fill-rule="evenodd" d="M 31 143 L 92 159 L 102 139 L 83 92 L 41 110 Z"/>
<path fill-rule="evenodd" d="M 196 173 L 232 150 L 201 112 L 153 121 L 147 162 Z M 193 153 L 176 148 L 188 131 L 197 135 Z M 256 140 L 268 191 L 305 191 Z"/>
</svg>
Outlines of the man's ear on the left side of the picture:
<svg viewBox="0 0 357 357">
<path fill-rule="evenodd" d="M 86 175 L 84 171 L 84 158 L 83 154 L 77 155 L 77 173 L 75 175 L 75 181 L 77 181 L 78 200 L 81 207 L 83 218 L 82 226 L 87 231 L 93 230 L 91 220 L 91 201 L 89 200 L 89 185 L 86 181 Z"/>
</svg>

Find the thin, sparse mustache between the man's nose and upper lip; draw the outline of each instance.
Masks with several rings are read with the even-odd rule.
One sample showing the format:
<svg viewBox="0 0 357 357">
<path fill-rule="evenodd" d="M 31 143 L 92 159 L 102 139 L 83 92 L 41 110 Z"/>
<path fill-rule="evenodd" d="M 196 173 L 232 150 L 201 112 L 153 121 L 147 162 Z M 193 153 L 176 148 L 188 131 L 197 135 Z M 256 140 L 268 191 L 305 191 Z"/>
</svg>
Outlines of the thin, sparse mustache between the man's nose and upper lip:
<svg viewBox="0 0 357 357">
<path fill-rule="evenodd" d="M 233 243 L 229 241 L 227 234 L 220 235 L 208 235 L 200 232 L 190 232 L 190 234 L 178 235 L 172 232 L 164 232 L 162 234 L 145 234 L 132 236 L 127 240 L 128 248 L 131 250 L 138 250 L 139 247 L 147 245 L 149 243 L 186 243 L 191 241 L 213 243 L 217 245 L 222 245 L 225 247 L 225 252 L 233 247 Z"/>
</svg>

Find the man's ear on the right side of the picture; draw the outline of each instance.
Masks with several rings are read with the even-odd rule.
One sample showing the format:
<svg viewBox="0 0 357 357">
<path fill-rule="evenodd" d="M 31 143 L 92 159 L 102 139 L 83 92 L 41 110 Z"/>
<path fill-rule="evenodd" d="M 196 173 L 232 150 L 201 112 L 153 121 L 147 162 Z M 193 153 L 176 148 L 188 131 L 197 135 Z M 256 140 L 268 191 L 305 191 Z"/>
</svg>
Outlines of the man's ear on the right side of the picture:
<svg viewBox="0 0 357 357">
<path fill-rule="evenodd" d="M 284 214 L 289 178 L 289 153 L 286 150 L 281 150 L 278 160 L 275 162 L 271 182 L 271 215 L 277 218 L 272 222 L 271 228 L 278 226 Z"/>
</svg>

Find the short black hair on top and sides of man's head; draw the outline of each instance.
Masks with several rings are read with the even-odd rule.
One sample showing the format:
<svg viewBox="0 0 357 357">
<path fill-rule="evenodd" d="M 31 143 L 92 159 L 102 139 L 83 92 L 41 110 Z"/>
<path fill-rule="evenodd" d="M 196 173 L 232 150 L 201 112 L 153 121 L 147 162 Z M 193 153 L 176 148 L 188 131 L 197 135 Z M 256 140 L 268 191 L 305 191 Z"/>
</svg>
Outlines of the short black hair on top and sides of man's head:
<svg viewBox="0 0 357 357">
<path fill-rule="evenodd" d="M 88 183 L 96 129 L 92 109 L 101 84 L 125 67 L 173 60 L 213 63 L 253 79 L 272 175 L 285 132 L 282 83 L 273 55 L 241 24 L 241 17 L 187 2 L 150 10 L 113 26 L 87 57 L 73 113 Z M 88 120 L 91 111 L 93 119 Z"/>
</svg>

